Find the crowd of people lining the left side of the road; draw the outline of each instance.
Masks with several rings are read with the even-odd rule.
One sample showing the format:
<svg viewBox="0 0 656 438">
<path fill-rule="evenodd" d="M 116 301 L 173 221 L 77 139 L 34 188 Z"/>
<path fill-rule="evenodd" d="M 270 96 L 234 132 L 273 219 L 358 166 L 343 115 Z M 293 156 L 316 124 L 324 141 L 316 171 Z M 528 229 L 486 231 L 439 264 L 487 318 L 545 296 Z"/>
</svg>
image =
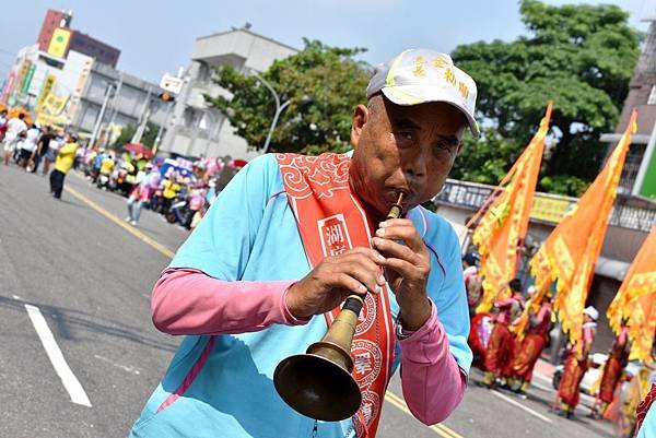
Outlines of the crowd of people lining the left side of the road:
<svg viewBox="0 0 656 438">
<path fill-rule="evenodd" d="M 49 175 L 50 192 L 57 199 L 71 168 L 82 170 L 99 189 L 124 194 L 126 222 L 133 226 L 145 208 L 191 229 L 218 194 L 221 167 L 208 168 L 204 161 L 149 159 L 143 152 L 89 147 L 75 134 L 38 127 L 24 113 L 11 118 L 7 110 L 0 113 L 0 142 L 4 165 L 13 162 L 26 171 Z"/>
</svg>

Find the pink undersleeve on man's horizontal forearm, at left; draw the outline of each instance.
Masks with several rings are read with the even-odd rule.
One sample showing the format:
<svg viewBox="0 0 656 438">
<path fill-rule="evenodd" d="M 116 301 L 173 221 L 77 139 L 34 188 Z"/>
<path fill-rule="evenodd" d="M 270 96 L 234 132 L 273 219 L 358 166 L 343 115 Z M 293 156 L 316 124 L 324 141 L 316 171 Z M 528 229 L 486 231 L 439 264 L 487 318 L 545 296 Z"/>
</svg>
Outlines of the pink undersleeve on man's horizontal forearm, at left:
<svg viewBox="0 0 656 438">
<path fill-rule="evenodd" d="M 279 323 L 295 325 L 285 305 L 293 281 L 226 282 L 192 269 L 165 271 L 152 293 L 155 327 L 169 334 L 255 332 Z"/>
</svg>

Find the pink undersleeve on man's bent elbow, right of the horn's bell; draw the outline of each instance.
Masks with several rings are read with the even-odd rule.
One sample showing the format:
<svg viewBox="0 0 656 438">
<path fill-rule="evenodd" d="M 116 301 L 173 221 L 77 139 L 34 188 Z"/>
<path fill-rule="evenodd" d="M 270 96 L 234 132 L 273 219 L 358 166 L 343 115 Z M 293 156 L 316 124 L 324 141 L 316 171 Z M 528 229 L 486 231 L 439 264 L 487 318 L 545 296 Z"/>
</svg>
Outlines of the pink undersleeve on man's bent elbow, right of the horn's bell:
<svg viewBox="0 0 656 438">
<path fill-rule="evenodd" d="M 400 341 L 403 398 L 412 415 L 426 425 L 448 417 L 467 388 L 467 375 L 450 354 L 435 304 L 431 304 L 431 318 Z"/>
</svg>

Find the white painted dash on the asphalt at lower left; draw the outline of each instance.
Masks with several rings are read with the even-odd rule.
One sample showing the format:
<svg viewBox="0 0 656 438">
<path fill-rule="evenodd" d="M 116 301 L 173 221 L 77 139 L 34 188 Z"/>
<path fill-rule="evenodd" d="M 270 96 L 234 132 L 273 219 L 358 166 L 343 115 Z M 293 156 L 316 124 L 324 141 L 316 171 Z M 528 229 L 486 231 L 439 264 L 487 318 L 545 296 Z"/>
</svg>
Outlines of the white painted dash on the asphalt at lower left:
<svg viewBox="0 0 656 438">
<path fill-rule="evenodd" d="M 57 345 L 57 341 L 55 341 L 55 336 L 46 322 L 46 319 L 42 315 L 38 307 L 31 306 L 28 304 L 25 305 L 25 309 L 27 310 L 27 315 L 34 324 L 34 329 L 36 330 L 36 334 L 38 334 L 38 339 L 40 340 L 44 348 L 46 350 L 46 354 L 57 371 L 57 375 L 61 379 L 63 387 L 68 391 L 71 396 L 71 401 L 77 404 L 81 404 L 83 406 L 91 407 L 91 401 L 89 396 L 86 396 L 86 392 L 84 392 L 84 388 L 80 384 L 80 381 L 71 370 L 71 368 L 66 363 L 63 358 L 63 354 L 61 354 L 61 350 L 59 350 L 59 345 Z"/>
</svg>

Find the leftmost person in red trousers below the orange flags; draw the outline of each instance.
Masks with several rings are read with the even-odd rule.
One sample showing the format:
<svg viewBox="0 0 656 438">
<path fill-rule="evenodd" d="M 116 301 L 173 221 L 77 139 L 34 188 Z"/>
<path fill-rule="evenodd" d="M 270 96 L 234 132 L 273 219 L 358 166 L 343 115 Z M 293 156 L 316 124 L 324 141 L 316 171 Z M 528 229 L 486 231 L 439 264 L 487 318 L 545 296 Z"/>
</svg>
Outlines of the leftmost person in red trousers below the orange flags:
<svg viewBox="0 0 656 438">
<path fill-rule="evenodd" d="M 490 334 L 488 350 L 485 351 L 483 386 L 492 388 L 499 379 L 502 387 L 507 387 L 511 377 L 515 336 L 511 333 L 509 325 L 519 316 L 523 307 L 522 282 L 513 279 L 508 283 L 509 291 L 506 298 L 494 301 L 499 313 L 494 319 L 494 328 Z"/>
</svg>

